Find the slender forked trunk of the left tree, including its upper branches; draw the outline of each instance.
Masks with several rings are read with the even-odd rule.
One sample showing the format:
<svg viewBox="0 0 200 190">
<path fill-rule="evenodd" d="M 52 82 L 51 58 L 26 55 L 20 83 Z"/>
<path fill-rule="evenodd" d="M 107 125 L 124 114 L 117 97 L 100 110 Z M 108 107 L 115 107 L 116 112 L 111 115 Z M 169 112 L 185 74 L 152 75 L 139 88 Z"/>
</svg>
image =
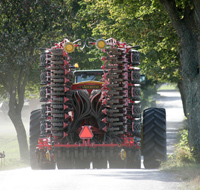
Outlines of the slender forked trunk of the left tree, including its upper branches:
<svg viewBox="0 0 200 190">
<path fill-rule="evenodd" d="M 27 67 L 19 67 L 18 65 L 16 65 L 16 67 L 20 69 L 17 79 L 14 78 L 15 67 L 12 67 L 10 70 L 11 76 L 8 80 L 8 92 L 10 95 L 8 116 L 10 117 L 17 132 L 20 158 L 22 160 L 28 160 L 29 150 L 27 136 L 24 124 L 22 122 L 21 113 L 24 105 L 25 86 L 28 80 L 30 65 L 28 65 Z"/>
</svg>

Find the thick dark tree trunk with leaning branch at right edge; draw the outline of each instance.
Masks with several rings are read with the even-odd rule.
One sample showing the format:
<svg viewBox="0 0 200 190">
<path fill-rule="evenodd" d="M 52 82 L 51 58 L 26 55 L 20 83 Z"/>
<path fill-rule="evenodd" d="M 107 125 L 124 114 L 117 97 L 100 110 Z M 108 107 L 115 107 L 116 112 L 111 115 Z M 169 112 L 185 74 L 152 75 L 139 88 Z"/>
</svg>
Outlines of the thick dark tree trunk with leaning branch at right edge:
<svg viewBox="0 0 200 190">
<path fill-rule="evenodd" d="M 175 0 L 160 2 L 180 39 L 182 80 L 178 87 L 188 121 L 189 144 L 200 162 L 200 1 L 185 1 L 183 18 L 179 17 Z"/>
</svg>

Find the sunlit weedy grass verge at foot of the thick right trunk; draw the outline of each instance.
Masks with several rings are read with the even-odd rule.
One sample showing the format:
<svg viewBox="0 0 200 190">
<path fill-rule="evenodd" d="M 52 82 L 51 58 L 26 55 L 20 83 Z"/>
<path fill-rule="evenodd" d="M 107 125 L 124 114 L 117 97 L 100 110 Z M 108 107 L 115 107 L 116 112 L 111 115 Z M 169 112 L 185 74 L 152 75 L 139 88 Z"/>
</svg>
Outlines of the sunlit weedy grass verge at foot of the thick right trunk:
<svg viewBox="0 0 200 190">
<path fill-rule="evenodd" d="M 200 165 L 195 163 L 188 145 L 188 132 L 181 129 L 178 135 L 179 143 L 175 146 L 173 155 L 167 162 L 161 164 L 160 170 L 174 173 L 183 181 L 183 190 L 200 190 Z"/>
</svg>

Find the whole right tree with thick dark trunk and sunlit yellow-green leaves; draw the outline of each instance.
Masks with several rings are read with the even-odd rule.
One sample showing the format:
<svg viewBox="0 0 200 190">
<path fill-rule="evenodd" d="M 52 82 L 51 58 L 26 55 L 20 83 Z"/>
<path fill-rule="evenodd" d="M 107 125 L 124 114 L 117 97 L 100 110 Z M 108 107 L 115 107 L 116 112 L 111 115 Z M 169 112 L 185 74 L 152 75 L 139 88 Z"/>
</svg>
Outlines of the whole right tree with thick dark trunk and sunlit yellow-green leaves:
<svg viewBox="0 0 200 190">
<path fill-rule="evenodd" d="M 198 0 L 85 1 L 93 35 L 141 46 L 142 71 L 178 84 L 190 146 L 200 154 L 200 2 Z M 93 19 L 91 19 L 91 17 Z M 154 75 L 152 75 L 154 73 Z"/>
</svg>

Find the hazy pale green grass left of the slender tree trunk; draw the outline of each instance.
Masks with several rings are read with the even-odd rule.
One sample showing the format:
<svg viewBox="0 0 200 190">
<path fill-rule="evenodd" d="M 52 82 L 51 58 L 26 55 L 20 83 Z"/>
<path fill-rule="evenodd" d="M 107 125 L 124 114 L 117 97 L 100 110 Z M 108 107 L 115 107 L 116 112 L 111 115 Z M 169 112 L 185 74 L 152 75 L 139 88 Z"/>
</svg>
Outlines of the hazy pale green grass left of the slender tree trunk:
<svg viewBox="0 0 200 190">
<path fill-rule="evenodd" d="M 0 159 L 0 171 L 28 167 L 29 164 L 20 160 L 17 138 L 0 136 L 0 152 L 5 151 L 5 160 Z"/>
</svg>

